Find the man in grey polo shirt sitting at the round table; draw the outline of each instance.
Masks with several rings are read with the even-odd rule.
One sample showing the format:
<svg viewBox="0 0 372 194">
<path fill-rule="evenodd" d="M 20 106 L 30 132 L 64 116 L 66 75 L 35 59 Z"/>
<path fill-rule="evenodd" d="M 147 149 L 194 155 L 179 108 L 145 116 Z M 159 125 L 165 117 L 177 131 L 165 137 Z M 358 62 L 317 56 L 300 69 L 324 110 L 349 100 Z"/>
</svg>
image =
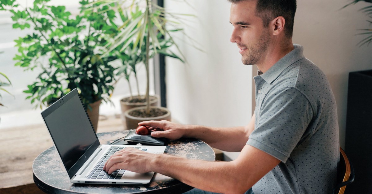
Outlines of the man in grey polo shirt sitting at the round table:
<svg viewBox="0 0 372 194">
<path fill-rule="evenodd" d="M 154 129 L 154 137 L 192 137 L 224 151 L 240 151 L 238 158 L 207 162 L 124 149 L 107 161 L 105 170 L 155 171 L 217 193 L 250 188 L 255 194 L 330 193 L 339 159 L 336 103 L 323 72 L 303 56 L 301 45 L 292 44 L 296 1 L 229 1 L 230 41 L 244 64 L 260 70 L 254 77 L 251 121 L 232 128 L 166 121 L 139 125 Z"/>
</svg>

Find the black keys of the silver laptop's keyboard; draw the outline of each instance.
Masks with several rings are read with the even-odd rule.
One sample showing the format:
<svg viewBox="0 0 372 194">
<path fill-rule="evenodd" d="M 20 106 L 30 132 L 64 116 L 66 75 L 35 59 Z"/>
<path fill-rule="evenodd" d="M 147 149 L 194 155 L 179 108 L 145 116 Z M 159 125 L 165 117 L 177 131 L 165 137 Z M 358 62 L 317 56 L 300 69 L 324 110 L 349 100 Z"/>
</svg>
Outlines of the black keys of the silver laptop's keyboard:
<svg viewBox="0 0 372 194">
<path fill-rule="evenodd" d="M 112 174 L 108 174 L 106 171 L 103 170 L 103 166 L 105 166 L 106 161 L 112 156 L 115 152 L 124 149 L 125 147 L 111 147 L 102 159 L 98 162 L 96 167 L 94 167 L 93 171 L 89 174 L 87 178 L 94 178 L 94 179 L 121 179 L 125 170 L 118 169 Z M 136 149 L 140 149 L 139 147 L 135 147 Z"/>
</svg>

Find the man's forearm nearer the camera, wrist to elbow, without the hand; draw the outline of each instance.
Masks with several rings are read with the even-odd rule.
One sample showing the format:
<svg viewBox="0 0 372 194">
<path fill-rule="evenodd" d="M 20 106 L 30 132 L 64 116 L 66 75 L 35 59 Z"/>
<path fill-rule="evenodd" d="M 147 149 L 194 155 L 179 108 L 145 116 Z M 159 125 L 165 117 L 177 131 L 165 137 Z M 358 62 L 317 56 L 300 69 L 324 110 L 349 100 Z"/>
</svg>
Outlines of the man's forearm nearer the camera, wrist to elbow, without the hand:
<svg viewBox="0 0 372 194">
<path fill-rule="evenodd" d="M 235 179 L 243 174 L 237 172 L 239 170 L 234 162 L 189 160 L 166 154 L 155 156 L 153 161 L 150 167 L 152 171 L 176 178 L 195 188 L 218 193 L 244 193 L 248 189 L 246 184 L 238 188 L 237 184 L 241 180 Z"/>
</svg>

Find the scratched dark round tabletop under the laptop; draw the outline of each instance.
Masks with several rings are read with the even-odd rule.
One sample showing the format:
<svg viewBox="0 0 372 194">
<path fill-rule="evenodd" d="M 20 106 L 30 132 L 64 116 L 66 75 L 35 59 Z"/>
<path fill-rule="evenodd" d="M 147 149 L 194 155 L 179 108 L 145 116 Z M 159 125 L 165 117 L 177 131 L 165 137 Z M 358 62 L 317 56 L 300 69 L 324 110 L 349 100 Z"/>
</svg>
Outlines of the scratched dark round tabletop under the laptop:
<svg viewBox="0 0 372 194">
<path fill-rule="evenodd" d="M 110 144 L 127 135 L 129 131 L 97 133 L 102 144 Z M 124 141 L 121 141 L 123 144 Z M 125 142 L 124 142 L 125 143 Z M 115 143 L 114 143 L 115 144 Z M 206 143 L 197 139 L 180 139 L 167 142 L 165 154 L 187 159 L 214 161 L 215 153 Z M 192 187 L 174 178 L 155 173 L 145 185 L 98 185 L 74 184 L 70 182 L 60 156 L 54 146 L 39 154 L 32 164 L 33 180 L 45 193 L 67 194 L 129 194 L 129 193 L 184 193 Z"/>
</svg>

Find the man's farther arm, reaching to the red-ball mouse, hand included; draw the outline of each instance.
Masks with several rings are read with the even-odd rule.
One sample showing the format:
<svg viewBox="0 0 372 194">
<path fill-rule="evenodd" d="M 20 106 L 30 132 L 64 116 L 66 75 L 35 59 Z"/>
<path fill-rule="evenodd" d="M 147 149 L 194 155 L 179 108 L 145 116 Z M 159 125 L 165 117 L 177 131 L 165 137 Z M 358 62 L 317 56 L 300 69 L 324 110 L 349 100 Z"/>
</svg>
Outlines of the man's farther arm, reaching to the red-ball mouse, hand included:
<svg viewBox="0 0 372 194">
<path fill-rule="evenodd" d="M 154 131 L 151 136 L 155 138 L 196 138 L 208 145 L 223 151 L 238 152 L 243 149 L 248 141 L 249 135 L 254 129 L 253 114 L 250 122 L 245 127 L 206 127 L 199 125 L 181 125 L 168 121 L 145 121 L 139 125 L 150 126 Z"/>
</svg>

